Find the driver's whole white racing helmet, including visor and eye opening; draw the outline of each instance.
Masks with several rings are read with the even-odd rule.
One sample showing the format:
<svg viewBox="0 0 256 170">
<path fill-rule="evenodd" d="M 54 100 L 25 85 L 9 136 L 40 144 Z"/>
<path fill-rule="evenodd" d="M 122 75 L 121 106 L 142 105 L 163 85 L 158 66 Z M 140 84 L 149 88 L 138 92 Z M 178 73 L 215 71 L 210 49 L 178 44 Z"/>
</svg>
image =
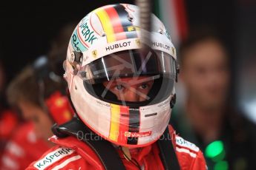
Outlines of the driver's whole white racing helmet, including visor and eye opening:
<svg viewBox="0 0 256 170">
<path fill-rule="evenodd" d="M 64 62 L 77 115 L 119 146 L 142 147 L 160 138 L 171 117 L 177 78 L 169 33 L 154 14 L 151 32 L 142 30 L 139 12 L 132 4 L 112 4 L 88 13 L 73 30 Z M 142 33 L 150 35 L 148 41 L 142 41 Z M 140 100 L 124 98 L 124 88 Z"/>
</svg>

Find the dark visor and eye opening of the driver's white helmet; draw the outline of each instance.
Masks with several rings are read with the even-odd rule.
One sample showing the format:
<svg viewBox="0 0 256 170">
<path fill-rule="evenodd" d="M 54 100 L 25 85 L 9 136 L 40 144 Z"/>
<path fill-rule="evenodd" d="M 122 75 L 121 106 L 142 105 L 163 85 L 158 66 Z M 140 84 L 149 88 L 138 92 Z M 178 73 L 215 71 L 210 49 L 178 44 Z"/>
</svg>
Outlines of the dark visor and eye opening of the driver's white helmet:
<svg viewBox="0 0 256 170">
<path fill-rule="evenodd" d="M 140 106 L 171 95 L 176 61 L 158 50 L 125 50 L 99 58 L 79 70 L 85 89 L 109 103 Z"/>
</svg>

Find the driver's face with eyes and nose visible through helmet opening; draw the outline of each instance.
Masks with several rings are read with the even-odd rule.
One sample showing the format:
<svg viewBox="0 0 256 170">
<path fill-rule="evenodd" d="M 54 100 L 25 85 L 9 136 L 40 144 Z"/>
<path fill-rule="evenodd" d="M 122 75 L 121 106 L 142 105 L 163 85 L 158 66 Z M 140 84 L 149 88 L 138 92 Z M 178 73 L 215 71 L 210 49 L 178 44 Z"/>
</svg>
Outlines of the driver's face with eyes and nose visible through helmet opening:
<svg viewBox="0 0 256 170">
<path fill-rule="evenodd" d="M 145 101 L 154 81 L 146 76 L 137 78 L 118 78 L 104 82 L 104 86 L 113 92 L 119 101 Z"/>
</svg>

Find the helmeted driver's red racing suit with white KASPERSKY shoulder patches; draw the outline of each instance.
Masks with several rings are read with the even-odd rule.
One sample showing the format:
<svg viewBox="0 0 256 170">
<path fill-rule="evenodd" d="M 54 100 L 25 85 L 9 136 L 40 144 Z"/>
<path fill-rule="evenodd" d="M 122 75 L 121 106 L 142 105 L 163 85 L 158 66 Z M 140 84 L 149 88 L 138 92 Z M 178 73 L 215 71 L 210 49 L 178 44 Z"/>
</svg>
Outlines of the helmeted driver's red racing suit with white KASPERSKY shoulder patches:
<svg viewBox="0 0 256 170">
<path fill-rule="evenodd" d="M 171 126 L 168 128 L 170 135 L 174 136 L 172 142 L 176 149 L 180 169 L 207 169 L 200 149 L 193 143 L 175 135 Z M 99 157 L 90 146 L 76 139 L 76 137 L 58 138 L 53 136 L 50 140 L 57 145 L 43 154 L 39 160 L 31 163 L 27 169 L 104 169 Z M 118 152 L 126 169 L 138 169 L 137 166 L 125 159 L 120 150 Z M 142 167 L 141 169 L 164 169 L 157 143 L 142 147 L 137 151 L 131 149 L 130 152 L 131 157 L 137 160 Z"/>
</svg>

